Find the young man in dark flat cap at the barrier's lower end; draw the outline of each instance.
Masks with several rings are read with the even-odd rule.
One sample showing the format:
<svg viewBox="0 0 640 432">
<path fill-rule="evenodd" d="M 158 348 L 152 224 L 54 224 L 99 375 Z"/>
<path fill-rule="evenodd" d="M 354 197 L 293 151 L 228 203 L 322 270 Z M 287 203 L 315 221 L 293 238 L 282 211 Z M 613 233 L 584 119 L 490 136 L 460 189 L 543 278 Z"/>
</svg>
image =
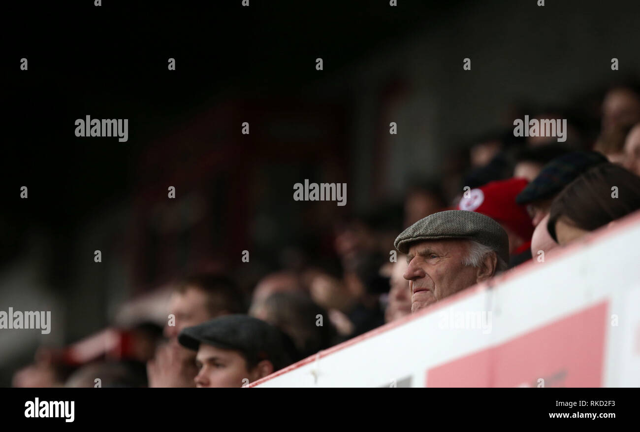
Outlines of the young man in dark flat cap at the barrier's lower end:
<svg viewBox="0 0 640 432">
<path fill-rule="evenodd" d="M 196 387 L 243 387 L 298 360 L 291 339 L 248 315 L 221 316 L 185 328 L 178 342 L 197 351 Z"/>
</svg>

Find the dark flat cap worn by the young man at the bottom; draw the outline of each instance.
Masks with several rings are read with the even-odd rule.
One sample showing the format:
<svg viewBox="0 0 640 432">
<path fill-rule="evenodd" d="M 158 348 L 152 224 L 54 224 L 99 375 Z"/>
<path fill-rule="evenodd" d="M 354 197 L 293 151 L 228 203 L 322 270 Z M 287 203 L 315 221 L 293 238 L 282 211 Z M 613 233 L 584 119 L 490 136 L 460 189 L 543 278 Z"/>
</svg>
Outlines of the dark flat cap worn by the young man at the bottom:
<svg viewBox="0 0 640 432">
<path fill-rule="evenodd" d="M 178 335 L 186 348 L 198 350 L 200 344 L 240 351 L 249 362 L 270 360 L 274 370 L 298 360 L 291 339 L 278 328 L 248 315 L 225 315 L 197 326 L 187 327 Z"/>
</svg>

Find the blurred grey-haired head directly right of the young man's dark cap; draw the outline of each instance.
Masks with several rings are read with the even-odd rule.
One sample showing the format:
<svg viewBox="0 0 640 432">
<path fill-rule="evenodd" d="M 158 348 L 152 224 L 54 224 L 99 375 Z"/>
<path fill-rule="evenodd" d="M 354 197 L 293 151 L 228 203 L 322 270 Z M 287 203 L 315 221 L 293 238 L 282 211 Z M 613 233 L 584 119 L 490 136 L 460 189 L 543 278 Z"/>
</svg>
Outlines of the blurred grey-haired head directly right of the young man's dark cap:
<svg viewBox="0 0 640 432">
<path fill-rule="evenodd" d="M 271 294 L 259 303 L 254 302 L 250 315 L 289 335 L 303 358 L 329 348 L 334 342 L 335 330 L 328 313 L 303 292 Z"/>
</svg>

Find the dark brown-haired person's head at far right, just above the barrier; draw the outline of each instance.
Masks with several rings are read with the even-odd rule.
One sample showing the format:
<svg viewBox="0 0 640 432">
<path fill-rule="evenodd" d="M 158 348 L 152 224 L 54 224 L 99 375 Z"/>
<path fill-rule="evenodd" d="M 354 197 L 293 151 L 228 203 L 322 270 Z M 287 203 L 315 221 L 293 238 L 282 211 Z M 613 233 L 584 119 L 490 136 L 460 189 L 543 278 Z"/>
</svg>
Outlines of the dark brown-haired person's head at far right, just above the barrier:
<svg viewBox="0 0 640 432">
<path fill-rule="evenodd" d="M 547 223 L 564 245 L 640 209 L 640 177 L 617 164 L 599 164 L 556 196 Z"/>
</svg>

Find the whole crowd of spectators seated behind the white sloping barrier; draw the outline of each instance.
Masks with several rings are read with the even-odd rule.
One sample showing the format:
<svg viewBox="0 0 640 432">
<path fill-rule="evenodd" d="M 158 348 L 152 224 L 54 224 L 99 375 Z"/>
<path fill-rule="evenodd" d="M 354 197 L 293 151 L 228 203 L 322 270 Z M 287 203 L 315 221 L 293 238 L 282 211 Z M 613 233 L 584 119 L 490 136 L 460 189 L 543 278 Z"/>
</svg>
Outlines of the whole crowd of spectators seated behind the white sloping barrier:
<svg viewBox="0 0 640 432">
<path fill-rule="evenodd" d="M 102 387 L 241 387 L 541 252 L 553 259 L 554 249 L 640 209 L 640 94 L 611 88 L 601 113 L 595 140 L 594 125 L 571 121 L 566 142 L 510 129 L 480 137 L 457 177 L 415 182 L 401 207 L 336 222 L 337 264 L 278 269 L 250 297 L 219 272 L 182 278 L 164 327 L 141 321 L 127 329 L 127 358 L 70 365 L 40 349 L 13 385 L 94 387 L 100 378 Z"/>
</svg>

